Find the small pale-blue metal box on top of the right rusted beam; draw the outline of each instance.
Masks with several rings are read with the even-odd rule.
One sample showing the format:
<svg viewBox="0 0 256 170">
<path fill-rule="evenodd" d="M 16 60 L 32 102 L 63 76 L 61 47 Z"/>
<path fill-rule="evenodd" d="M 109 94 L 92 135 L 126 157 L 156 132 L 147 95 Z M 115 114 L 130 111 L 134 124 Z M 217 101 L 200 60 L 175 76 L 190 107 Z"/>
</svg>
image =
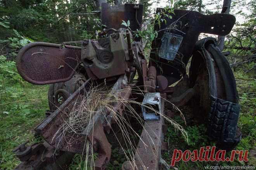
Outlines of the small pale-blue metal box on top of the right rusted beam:
<svg viewBox="0 0 256 170">
<path fill-rule="evenodd" d="M 151 107 L 154 110 L 157 110 L 157 112 L 150 109 Z M 160 93 L 146 93 L 142 102 L 142 113 L 144 120 L 159 120 L 159 113 L 161 113 L 161 111 Z"/>
</svg>

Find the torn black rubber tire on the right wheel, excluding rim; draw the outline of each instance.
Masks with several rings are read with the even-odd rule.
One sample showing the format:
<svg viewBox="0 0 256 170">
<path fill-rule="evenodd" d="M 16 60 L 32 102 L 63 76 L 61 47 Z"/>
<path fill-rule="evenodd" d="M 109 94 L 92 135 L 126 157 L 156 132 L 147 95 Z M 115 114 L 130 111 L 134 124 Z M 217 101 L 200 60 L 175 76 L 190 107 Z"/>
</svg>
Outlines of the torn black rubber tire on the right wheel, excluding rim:
<svg viewBox="0 0 256 170">
<path fill-rule="evenodd" d="M 217 141 L 219 149 L 230 151 L 237 146 L 242 136 L 237 128 L 240 105 L 238 104 L 238 94 L 232 69 L 214 42 L 211 38 L 202 39 L 198 42 L 196 48 L 196 51 L 200 51 L 202 54 L 204 64 L 207 66 L 209 75 L 211 75 L 209 76 L 211 106 L 208 110 L 208 136 L 210 139 Z M 191 61 L 190 85 L 192 87 L 195 84 L 195 73 L 200 72 L 199 68 L 196 67 L 198 59 L 198 55 L 193 55 Z M 193 64 L 195 64 L 194 68 Z M 218 82 L 220 79 L 216 74 L 221 77 L 221 83 Z M 225 89 L 225 94 L 220 92 L 220 85 Z"/>
</svg>

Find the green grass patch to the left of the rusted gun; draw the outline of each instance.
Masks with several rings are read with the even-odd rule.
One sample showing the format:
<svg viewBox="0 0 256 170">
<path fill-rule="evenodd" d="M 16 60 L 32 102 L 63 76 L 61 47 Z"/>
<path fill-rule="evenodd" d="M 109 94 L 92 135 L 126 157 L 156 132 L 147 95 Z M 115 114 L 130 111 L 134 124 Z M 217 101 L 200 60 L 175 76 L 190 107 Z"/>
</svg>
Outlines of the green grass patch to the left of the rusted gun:
<svg viewBox="0 0 256 170">
<path fill-rule="evenodd" d="M 48 86 L 32 85 L 16 74 L 18 80 L 0 75 L 0 169 L 7 170 L 19 164 L 12 153 L 16 146 L 27 139 L 29 144 L 36 142 L 33 128 L 48 108 Z"/>
</svg>

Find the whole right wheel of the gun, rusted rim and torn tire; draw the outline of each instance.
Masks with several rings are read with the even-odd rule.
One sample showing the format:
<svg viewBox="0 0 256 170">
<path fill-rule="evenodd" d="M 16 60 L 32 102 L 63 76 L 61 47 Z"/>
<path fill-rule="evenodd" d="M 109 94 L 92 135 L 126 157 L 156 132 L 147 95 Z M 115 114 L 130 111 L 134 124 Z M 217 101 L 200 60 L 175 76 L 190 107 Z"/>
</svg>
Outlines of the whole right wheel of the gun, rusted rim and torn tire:
<svg viewBox="0 0 256 170">
<path fill-rule="evenodd" d="M 190 65 L 190 87 L 195 90 L 193 112 L 207 122 L 208 135 L 218 147 L 230 151 L 241 138 L 235 79 L 220 50 L 206 42 L 194 51 Z"/>
</svg>

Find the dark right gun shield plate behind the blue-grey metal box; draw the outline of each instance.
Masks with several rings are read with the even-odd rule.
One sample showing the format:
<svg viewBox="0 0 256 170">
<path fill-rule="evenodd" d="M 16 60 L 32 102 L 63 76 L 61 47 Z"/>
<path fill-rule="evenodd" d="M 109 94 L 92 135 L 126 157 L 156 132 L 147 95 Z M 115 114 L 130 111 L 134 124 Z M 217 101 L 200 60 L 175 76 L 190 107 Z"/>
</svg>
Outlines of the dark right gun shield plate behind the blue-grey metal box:
<svg viewBox="0 0 256 170">
<path fill-rule="evenodd" d="M 157 8 L 156 13 L 161 14 L 163 8 Z M 154 30 L 158 31 L 157 38 L 152 42 L 149 65 L 156 66 L 157 75 L 166 76 L 168 85 L 180 80 L 185 74 L 185 68 L 198 40 L 200 33 L 227 35 L 235 24 L 235 17 L 228 14 L 202 15 L 196 11 L 174 10 L 175 14 L 170 14 L 172 19 L 166 19 L 159 25 L 156 24 Z M 161 48 L 164 32 L 170 32 L 183 37 L 180 48 L 173 61 L 168 61 L 158 56 Z"/>
</svg>

